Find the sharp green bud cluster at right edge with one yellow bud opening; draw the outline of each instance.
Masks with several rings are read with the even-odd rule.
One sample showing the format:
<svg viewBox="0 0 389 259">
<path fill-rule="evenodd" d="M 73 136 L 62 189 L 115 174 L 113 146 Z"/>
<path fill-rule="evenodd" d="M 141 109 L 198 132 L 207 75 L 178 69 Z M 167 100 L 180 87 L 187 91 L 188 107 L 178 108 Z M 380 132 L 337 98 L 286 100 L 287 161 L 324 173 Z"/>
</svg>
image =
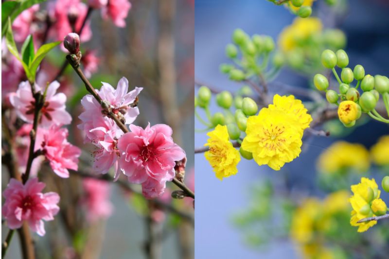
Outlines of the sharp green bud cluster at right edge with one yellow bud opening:
<svg viewBox="0 0 389 259">
<path fill-rule="evenodd" d="M 316 74 L 314 84 L 319 91 L 326 92 L 329 103 L 338 105 L 339 120 L 346 127 L 353 127 L 362 113 L 367 113 L 373 119 L 389 123 L 389 119 L 379 114 L 375 107 L 382 96 L 389 116 L 389 78 L 381 75 L 365 75 L 362 65 L 355 65 L 354 70 L 349 65 L 349 57 L 343 49 L 336 53 L 326 49 L 321 54 L 321 63 L 332 70 L 338 82 L 338 92 L 330 90 L 328 79 L 322 74 Z M 341 68 L 340 78 L 336 66 Z M 356 84 L 353 85 L 353 82 Z M 360 90 L 359 90 L 360 89 Z"/>
</svg>

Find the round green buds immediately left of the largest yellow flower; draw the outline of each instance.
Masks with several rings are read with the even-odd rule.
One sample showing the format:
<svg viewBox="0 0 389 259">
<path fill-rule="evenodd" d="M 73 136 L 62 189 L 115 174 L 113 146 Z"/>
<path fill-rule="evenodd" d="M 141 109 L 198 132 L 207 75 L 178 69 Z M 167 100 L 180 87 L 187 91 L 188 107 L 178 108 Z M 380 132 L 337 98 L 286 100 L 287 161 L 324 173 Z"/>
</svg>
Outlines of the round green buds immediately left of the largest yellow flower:
<svg viewBox="0 0 389 259">
<path fill-rule="evenodd" d="M 250 98 L 252 96 L 251 88 L 243 86 L 234 96 L 229 91 L 222 91 L 216 94 L 215 102 L 223 112 L 211 114 L 209 106 L 212 100 L 211 90 L 207 86 L 201 86 L 195 97 L 195 108 L 203 109 L 208 121 L 203 119 L 195 110 L 195 116 L 198 121 L 205 125 L 207 129 L 213 129 L 217 125 L 226 125 L 230 140 L 237 141 L 241 144 L 246 134 L 247 119 L 249 116 L 258 113 L 257 103 Z M 252 154 L 239 149 L 240 154 L 245 159 L 252 159 Z"/>
</svg>

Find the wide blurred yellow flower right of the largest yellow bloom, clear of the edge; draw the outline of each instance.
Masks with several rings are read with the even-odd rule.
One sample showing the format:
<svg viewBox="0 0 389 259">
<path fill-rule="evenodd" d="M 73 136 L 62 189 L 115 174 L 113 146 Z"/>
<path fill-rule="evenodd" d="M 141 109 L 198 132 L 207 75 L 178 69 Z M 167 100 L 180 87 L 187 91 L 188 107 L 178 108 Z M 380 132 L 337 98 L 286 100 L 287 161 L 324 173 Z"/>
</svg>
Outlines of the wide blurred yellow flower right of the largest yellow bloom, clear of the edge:
<svg viewBox="0 0 389 259">
<path fill-rule="evenodd" d="M 338 141 L 320 154 L 317 167 L 329 174 L 350 169 L 366 172 L 370 167 L 369 151 L 360 144 Z"/>
</svg>

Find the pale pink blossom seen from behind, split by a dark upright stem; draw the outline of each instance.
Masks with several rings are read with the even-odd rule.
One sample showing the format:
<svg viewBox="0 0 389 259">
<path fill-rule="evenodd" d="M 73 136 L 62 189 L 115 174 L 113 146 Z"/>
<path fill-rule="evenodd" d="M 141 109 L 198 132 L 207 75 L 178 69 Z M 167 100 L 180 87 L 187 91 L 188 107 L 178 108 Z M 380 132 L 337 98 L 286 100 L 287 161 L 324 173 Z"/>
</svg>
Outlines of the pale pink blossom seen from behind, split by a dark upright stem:
<svg viewBox="0 0 389 259">
<path fill-rule="evenodd" d="M 58 87 L 59 83 L 57 81 L 53 81 L 48 86 L 45 104 L 41 110 L 39 121 L 39 125 L 42 127 L 50 127 L 52 124 L 66 125 L 71 123 L 71 115 L 65 110 L 66 95 L 63 93 L 55 94 Z M 37 84 L 35 84 L 35 89 L 43 93 L 43 89 Z M 10 97 L 10 101 L 22 120 L 33 123 L 35 99 L 28 81 L 19 84 L 16 94 Z"/>
</svg>

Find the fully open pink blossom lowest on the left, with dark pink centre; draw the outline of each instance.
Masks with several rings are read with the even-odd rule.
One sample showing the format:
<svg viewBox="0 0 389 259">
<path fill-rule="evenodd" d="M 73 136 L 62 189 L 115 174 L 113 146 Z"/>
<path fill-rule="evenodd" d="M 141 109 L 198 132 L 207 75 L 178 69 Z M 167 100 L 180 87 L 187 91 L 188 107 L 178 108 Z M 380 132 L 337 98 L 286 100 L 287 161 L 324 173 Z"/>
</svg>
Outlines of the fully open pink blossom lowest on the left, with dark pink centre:
<svg viewBox="0 0 389 259">
<path fill-rule="evenodd" d="M 19 228 L 26 220 L 39 236 L 45 235 L 43 220 L 53 220 L 58 213 L 59 195 L 53 192 L 43 194 L 43 188 L 45 184 L 38 182 L 37 178 L 30 178 L 25 185 L 11 178 L 3 192 L 5 202 L 2 207 L 9 228 Z"/>
</svg>

